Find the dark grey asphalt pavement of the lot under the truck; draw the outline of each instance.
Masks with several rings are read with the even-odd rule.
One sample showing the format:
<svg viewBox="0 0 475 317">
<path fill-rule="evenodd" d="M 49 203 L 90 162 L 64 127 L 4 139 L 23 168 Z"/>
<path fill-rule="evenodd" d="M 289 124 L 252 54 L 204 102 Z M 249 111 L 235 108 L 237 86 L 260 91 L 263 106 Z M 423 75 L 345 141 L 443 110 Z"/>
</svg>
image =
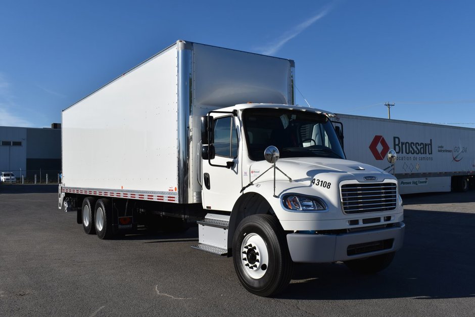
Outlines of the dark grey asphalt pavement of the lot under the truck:
<svg viewBox="0 0 475 317">
<path fill-rule="evenodd" d="M 0 186 L 0 316 L 475 315 L 475 191 L 404 196 L 406 237 L 374 276 L 296 265 L 275 298 L 247 292 L 232 259 L 192 249 L 198 229 L 86 235 L 56 186 Z"/>
</svg>

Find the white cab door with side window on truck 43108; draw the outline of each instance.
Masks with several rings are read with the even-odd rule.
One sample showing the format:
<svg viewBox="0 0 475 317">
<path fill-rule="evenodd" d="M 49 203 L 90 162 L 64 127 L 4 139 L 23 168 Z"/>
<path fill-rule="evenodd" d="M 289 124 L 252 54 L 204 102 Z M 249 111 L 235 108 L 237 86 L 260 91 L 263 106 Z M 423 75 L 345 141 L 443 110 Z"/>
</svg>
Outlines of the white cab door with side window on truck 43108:
<svg viewBox="0 0 475 317">
<path fill-rule="evenodd" d="M 231 211 L 242 189 L 239 121 L 228 115 L 214 118 L 212 124 L 214 157 L 202 160 L 203 207 Z"/>
</svg>

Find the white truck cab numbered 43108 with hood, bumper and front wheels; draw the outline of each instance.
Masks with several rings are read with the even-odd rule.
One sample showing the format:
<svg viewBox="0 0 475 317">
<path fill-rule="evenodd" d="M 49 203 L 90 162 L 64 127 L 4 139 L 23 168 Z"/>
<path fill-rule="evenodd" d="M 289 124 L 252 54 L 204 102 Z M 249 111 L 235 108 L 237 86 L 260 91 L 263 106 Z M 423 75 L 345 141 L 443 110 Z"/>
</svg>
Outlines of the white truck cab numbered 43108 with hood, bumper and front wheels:
<svg viewBox="0 0 475 317">
<path fill-rule="evenodd" d="M 198 248 L 232 253 L 253 293 L 287 285 L 293 262 L 344 261 L 374 273 L 402 246 L 397 179 L 347 160 L 332 116 L 241 104 L 202 118 L 202 204 L 209 213 L 199 222 Z"/>
</svg>

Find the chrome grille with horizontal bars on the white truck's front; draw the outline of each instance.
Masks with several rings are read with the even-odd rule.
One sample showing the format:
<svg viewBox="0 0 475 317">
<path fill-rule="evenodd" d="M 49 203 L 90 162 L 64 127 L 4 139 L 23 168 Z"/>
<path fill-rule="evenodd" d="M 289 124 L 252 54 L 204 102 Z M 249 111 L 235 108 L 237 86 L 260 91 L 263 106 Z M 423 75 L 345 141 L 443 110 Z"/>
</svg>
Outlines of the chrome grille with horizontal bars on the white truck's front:
<svg viewBox="0 0 475 317">
<path fill-rule="evenodd" d="M 342 185 L 342 206 L 345 213 L 378 212 L 396 209 L 395 183 Z"/>
</svg>

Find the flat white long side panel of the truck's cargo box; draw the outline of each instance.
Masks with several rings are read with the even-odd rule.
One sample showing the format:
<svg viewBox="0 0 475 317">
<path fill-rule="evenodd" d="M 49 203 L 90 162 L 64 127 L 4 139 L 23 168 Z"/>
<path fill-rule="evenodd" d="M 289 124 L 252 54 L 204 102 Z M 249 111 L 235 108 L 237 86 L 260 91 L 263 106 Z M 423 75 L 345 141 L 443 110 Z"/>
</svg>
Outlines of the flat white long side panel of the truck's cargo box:
<svg viewBox="0 0 475 317">
<path fill-rule="evenodd" d="M 177 52 L 152 58 L 63 112 L 68 187 L 177 186 Z"/>
</svg>

